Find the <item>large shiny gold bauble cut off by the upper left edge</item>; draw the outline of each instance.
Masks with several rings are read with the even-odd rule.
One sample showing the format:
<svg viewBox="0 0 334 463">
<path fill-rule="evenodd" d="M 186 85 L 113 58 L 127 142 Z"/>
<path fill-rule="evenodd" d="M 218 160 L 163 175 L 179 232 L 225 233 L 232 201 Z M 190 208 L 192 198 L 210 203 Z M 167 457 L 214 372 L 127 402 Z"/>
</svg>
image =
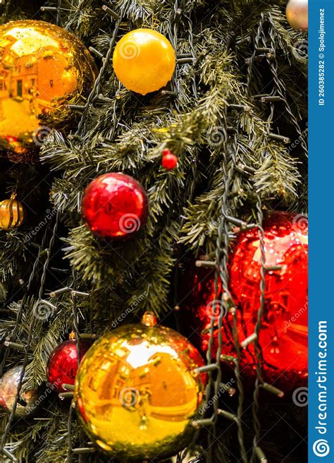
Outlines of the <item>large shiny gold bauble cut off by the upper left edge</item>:
<svg viewBox="0 0 334 463">
<path fill-rule="evenodd" d="M 44 21 L 0 26 L 0 150 L 38 149 L 51 128 L 68 121 L 97 68 L 75 35 Z"/>
</svg>

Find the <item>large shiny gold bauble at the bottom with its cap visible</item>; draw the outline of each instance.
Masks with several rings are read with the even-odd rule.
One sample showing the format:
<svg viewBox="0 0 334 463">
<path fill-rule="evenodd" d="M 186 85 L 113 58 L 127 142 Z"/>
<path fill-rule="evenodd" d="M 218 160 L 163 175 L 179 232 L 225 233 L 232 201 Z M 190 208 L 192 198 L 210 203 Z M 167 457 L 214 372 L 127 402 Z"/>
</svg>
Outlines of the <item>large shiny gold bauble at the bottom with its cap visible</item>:
<svg viewBox="0 0 334 463">
<path fill-rule="evenodd" d="M 75 380 L 85 432 L 124 462 L 175 455 L 194 432 L 204 391 L 194 368 L 203 364 L 197 349 L 169 328 L 113 330 L 87 351 Z"/>
</svg>

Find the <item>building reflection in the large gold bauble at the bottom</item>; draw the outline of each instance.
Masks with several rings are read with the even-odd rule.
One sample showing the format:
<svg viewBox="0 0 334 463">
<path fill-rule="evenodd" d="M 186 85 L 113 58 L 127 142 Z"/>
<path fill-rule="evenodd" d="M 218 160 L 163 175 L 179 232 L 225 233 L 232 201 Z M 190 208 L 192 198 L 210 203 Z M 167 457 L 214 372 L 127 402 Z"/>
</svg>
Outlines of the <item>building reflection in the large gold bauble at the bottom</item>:
<svg viewBox="0 0 334 463">
<path fill-rule="evenodd" d="M 127 347 L 123 346 L 122 350 L 130 354 Z M 106 354 L 103 357 L 100 368 L 87 384 L 90 399 L 98 405 L 97 414 L 103 416 L 111 407 L 133 406 L 140 409 L 145 404 L 149 407 L 149 416 L 182 421 L 196 409 L 194 378 L 176 356 L 171 361 L 171 353 L 156 352 L 138 366 L 127 360 L 127 354 L 123 359 L 106 357 Z M 99 363 L 99 360 L 96 361 Z M 168 381 L 168 377 L 173 381 Z M 126 390 L 132 391 L 132 394 L 127 394 Z M 97 392 L 98 400 L 94 392 Z"/>
</svg>

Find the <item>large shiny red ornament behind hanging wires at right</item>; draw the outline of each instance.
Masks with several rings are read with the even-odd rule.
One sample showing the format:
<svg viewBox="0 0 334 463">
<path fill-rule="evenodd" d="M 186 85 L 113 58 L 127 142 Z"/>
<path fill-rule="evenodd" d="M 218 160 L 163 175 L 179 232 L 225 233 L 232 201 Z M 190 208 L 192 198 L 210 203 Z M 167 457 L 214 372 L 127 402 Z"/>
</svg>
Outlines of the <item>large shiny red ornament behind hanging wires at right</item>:
<svg viewBox="0 0 334 463">
<path fill-rule="evenodd" d="M 307 380 L 307 220 L 285 212 L 273 212 L 264 221 L 266 272 L 264 315 L 259 345 L 264 379 L 277 387 L 291 390 Z M 230 254 L 230 292 L 237 313 L 237 335 L 242 342 L 254 333 L 260 303 L 261 249 L 258 229 L 242 232 Z M 226 311 L 219 300 L 226 299 L 221 285 L 218 296 L 212 270 L 193 270 L 190 296 L 184 307 L 192 312 L 190 330 L 199 333 L 197 342 L 206 351 L 209 327 L 214 317 L 214 354 L 217 347 L 217 322 L 223 313 L 223 354 L 236 355 L 233 340 L 233 309 Z M 188 288 L 189 289 L 189 288 Z M 187 291 L 187 289 L 186 289 Z M 233 308 L 232 301 L 227 306 Z M 227 313 L 226 313 L 227 312 Z M 187 320 L 190 320 L 186 311 Z M 188 322 L 189 323 L 189 322 Z M 194 341 L 191 337 L 190 340 Z M 242 349 L 241 374 L 251 378 L 256 368 L 254 344 Z"/>
</svg>

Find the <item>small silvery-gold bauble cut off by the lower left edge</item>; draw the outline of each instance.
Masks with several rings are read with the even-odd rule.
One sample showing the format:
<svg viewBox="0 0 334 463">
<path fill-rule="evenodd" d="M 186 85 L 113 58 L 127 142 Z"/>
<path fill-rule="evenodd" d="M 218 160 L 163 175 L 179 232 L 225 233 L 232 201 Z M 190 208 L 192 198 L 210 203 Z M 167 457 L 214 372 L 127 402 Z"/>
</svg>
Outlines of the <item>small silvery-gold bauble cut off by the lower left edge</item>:
<svg viewBox="0 0 334 463">
<path fill-rule="evenodd" d="M 9 413 L 13 410 L 13 404 L 18 394 L 18 383 L 22 366 L 14 366 L 0 378 L 0 407 L 6 409 Z M 37 390 L 24 392 L 20 390 L 16 406 L 15 416 L 29 416 L 39 405 L 39 394 Z"/>
</svg>

